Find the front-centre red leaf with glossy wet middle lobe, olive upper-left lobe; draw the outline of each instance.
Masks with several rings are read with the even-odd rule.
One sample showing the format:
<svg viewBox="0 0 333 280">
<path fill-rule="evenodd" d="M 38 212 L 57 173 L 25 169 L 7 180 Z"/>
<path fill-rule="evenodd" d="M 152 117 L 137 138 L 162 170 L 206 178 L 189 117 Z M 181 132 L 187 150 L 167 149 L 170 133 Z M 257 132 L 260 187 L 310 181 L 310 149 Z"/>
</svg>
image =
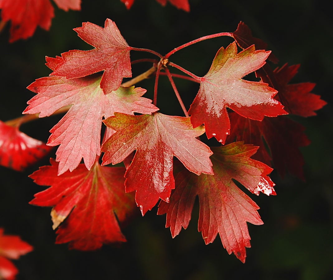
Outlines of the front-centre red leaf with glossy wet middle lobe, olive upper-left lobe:
<svg viewBox="0 0 333 280">
<path fill-rule="evenodd" d="M 199 175 L 212 174 L 209 147 L 195 139 L 202 126 L 193 128 L 188 117 L 167 116 L 162 113 L 131 116 L 115 113 L 104 123 L 115 130 L 102 146 L 102 165 L 125 160 L 136 154 L 125 174 L 126 192 L 136 192 L 136 202 L 144 215 L 161 198 L 168 201 L 174 189 L 173 157 Z"/>
</svg>

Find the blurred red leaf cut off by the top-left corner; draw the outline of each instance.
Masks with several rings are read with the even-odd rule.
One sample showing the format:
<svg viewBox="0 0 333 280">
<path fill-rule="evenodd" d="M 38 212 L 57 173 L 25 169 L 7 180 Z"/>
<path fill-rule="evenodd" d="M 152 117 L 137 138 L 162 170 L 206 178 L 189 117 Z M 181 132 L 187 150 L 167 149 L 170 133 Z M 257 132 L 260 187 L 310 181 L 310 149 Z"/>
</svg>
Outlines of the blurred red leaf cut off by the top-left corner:
<svg viewBox="0 0 333 280">
<path fill-rule="evenodd" d="M 59 8 L 80 10 L 81 0 L 55 0 Z M 37 26 L 49 30 L 54 17 L 54 8 L 50 0 L 0 0 L 3 22 L 11 21 L 10 40 L 31 37 Z"/>
</svg>

